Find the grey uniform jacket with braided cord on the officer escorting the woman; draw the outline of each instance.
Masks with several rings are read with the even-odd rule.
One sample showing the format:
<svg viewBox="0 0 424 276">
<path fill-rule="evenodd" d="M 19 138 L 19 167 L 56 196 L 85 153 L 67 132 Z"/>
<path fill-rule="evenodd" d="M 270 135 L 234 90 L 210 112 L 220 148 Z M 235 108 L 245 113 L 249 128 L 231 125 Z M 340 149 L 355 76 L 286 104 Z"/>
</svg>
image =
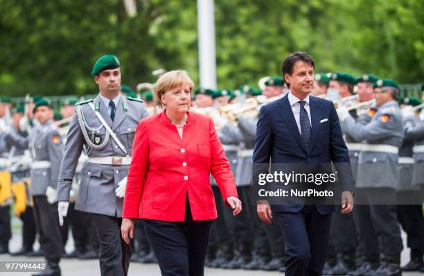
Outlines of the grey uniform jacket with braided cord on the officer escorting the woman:
<svg viewBox="0 0 424 276">
<path fill-rule="evenodd" d="M 126 153 L 110 137 L 109 132 L 96 117 L 90 103 L 95 106 L 112 131 L 116 133 L 116 137 L 125 147 Z M 78 113 L 82 114 L 79 120 Z M 92 101 L 77 104 L 77 113 L 73 116 L 69 126 L 64 158 L 60 166 L 58 201 L 69 200 L 72 179 L 83 146 L 85 146 L 89 158 L 130 156 L 136 126 L 144 117 L 148 117 L 148 112 L 143 101 L 124 96 L 120 97 L 116 105 L 114 121 L 109 117 L 107 107 L 100 95 Z M 121 217 L 123 198 L 116 197 L 115 189 L 118 187 L 118 183 L 127 176 L 128 169 L 129 165 L 96 164 L 90 162 L 89 159 L 82 169 L 76 209 L 94 214 Z"/>
</svg>

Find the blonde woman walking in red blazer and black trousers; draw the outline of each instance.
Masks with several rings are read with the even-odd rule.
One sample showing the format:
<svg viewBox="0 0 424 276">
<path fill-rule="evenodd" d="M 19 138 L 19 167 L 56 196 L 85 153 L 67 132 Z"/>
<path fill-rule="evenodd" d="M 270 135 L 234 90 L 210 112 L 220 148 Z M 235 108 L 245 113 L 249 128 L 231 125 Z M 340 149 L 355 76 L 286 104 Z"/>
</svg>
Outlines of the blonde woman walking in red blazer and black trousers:
<svg viewBox="0 0 424 276">
<path fill-rule="evenodd" d="M 210 173 L 233 215 L 242 209 L 213 121 L 188 111 L 192 91 L 186 71 L 159 78 L 155 96 L 165 110 L 140 121 L 127 176 L 123 239 L 130 243 L 133 219 L 143 218 L 162 275 L 203 275 L 217 218 Z"/>
</svg>

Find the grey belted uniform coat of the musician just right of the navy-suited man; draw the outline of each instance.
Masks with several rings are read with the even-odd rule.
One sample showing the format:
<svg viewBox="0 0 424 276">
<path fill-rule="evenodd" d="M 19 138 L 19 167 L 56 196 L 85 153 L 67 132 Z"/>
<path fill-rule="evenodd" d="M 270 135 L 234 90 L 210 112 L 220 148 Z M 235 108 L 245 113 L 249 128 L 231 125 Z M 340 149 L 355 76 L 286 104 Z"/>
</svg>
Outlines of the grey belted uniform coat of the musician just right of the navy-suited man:
<svg viewBox="0 0 424 276">
<path fill-rule="evenodd" d="M 382 105 L 366 125 L 348 117 L 341 126 L 353 139 L 364 141 L 358 157 L 356 187 L 398 187 L 398 148 L 403 141 L 403 116 L 398 103 Z"/>
</svg>

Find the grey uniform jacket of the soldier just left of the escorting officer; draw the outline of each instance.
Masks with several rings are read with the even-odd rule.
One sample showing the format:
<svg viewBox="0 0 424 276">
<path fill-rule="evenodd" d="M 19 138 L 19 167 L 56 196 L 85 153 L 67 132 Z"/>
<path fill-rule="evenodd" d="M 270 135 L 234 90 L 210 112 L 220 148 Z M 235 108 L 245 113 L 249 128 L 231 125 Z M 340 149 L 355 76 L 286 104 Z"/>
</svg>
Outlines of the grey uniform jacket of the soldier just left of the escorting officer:
<svg viewBox="0 0 424 276">
<path fill-rule="evenodd" d="M 33 158 L 30 171 L 32 196 L 44 196 L 49 186 L 56 189 L 63 156 L 63 144 L 58 128 L 53 125 L 53 121 L 47 121 L 35 127 L 28 137 L 8 132 L 5 139 L 17 148 L 29 148 L 30 150 Z"/>
</svg>

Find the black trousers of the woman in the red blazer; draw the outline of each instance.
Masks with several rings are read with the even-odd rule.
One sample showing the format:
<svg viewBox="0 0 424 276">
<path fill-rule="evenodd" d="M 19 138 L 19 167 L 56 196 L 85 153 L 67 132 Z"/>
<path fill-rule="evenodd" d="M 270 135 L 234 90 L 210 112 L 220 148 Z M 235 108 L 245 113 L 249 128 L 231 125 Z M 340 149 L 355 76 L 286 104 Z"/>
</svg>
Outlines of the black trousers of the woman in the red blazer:
<svg viewBox="0 0 424 276">
<path fill-rule="evenodd" d="M 163 276 L 203 276 L 213 221 L 193 221 L 188 198 L 184 222 L 143 219 Z"/>
</svg>

